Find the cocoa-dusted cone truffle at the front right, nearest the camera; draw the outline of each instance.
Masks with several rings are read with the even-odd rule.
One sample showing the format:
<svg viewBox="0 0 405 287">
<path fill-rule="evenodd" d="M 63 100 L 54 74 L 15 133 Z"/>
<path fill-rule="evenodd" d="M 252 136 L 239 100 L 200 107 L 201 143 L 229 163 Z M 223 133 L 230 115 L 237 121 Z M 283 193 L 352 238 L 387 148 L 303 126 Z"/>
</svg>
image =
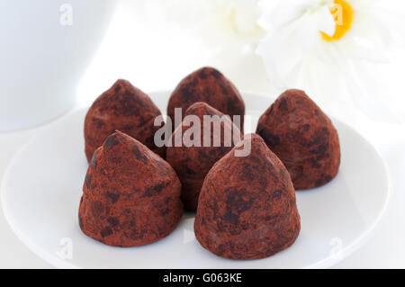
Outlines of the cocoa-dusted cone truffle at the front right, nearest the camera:
<svg viewBox="0 0 405 287">
<path fill-rule="evenodd" d="M 239 145 L 205 177 L 194 231 L 202 247 L 230 259 L 259 259 L 293 245 L 301 229 L 295 191 L 283 163 L 256 134 Z"/>
</svg>

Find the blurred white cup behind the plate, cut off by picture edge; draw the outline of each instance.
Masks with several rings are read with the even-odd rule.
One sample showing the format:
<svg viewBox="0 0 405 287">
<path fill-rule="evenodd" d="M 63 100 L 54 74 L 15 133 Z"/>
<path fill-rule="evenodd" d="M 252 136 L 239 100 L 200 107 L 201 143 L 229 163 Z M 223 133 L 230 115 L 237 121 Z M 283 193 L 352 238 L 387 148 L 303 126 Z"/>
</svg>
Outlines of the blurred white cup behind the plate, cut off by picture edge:
<svg viewBox="0 0 405 287">
<path fill-rule="evenodd" d="M 0 2 L 0 131 L 67 112 L 103 40 L 113 0 Z"/>
</svg>

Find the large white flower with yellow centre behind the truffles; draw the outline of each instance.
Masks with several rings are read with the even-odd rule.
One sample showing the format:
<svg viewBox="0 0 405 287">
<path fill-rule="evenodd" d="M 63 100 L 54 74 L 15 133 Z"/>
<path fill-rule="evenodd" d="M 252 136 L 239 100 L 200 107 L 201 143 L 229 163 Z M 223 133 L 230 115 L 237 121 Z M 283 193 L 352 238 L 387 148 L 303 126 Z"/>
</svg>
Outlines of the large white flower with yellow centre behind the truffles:
<svg viewBox="0 0 405 287">
<path fill-rule="evenodd" d="M 280 88 L 302 88 L 334 112 L 354 103 L 374 118 L 381 115 L 378 120 L 403 121 L 405 112 L 384 91 L 380 75 L 403 37 L 405 14 L 395 11 L 396 3 L 263 0 L 259 24 L 267 35 L 257 53 Z"/>
</svg>

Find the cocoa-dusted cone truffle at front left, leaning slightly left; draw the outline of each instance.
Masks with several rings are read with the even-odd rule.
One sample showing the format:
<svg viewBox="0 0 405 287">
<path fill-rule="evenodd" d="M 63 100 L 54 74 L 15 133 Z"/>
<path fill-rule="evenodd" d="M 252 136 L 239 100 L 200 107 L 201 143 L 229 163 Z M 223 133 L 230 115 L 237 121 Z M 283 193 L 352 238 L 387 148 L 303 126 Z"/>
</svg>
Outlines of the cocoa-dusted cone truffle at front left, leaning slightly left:
<svg viewBox="0 0 405 287">
<path fill-rule="evenodd" d="M 115 247 L 147 245 L 170 234 L 183 214 L 173 168 L 121 132 L 97 148 L 85 175 L 79 224 Z"/>
</svg>

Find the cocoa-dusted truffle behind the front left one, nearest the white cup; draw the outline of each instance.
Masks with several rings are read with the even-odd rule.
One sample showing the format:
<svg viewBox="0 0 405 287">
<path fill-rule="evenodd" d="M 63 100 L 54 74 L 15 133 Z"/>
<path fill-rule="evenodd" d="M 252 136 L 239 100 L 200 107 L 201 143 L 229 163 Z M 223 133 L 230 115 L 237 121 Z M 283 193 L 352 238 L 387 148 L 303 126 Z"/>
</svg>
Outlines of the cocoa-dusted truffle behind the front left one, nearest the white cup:
<svg viewBox="0 0 405 287">
<path fill-rule="evenodd" d="M 138 139 L 159 156 L 165 157 L 165 148 L 157 148 L 154 143 L 154 126 L 157 116 L 161 115 L 155 103 L 147 94 L 130 82 L 118 80 L 101 94 L 85 116 L 85 156 L 93 157 L 94 150 L 103 145 L 114 130 L 121 130 L 130 137 Z"/>
</svg>

